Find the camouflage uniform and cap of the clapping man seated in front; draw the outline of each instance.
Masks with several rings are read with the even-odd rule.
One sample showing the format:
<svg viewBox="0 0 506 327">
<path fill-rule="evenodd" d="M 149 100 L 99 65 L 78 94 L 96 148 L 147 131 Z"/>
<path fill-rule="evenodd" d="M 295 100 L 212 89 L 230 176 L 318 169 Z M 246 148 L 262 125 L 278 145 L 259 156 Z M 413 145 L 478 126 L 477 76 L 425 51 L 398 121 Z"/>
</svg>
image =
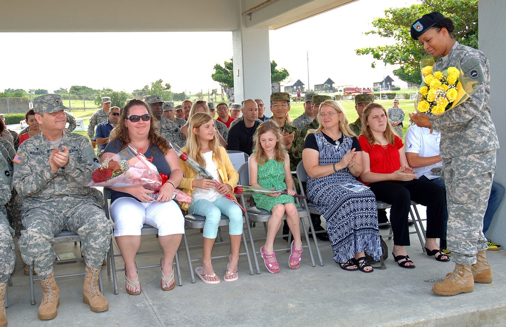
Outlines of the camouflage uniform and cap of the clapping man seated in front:
<svg viewBox="0 0 506 327">
<path fill-rule="evenodd" d="M 37 99 L 41 99 L 37 101 Z M 38 111 L 58 112 L 65 107 L 60 96 L 44 95 L 34 99 Z M 60 143 L 69 150 L 65 168 L 53 174 L 49 156 L 54 147 L 44 137 L 44 129 L 20 146 L 14 159 L 13 183 L 23 197 L 21 231 L 18 245 L 25 263 L 37 271 L 39 278 L 53 273 L 55 251 L 53 237 L 63 229 L 78 233 L 86 265 L 100 269 L 111 241 L 111 223 L 97 190 L 82 186 L 91 180 L 98 163 L 88 139 L 63 131 Z"/>
</svg>

